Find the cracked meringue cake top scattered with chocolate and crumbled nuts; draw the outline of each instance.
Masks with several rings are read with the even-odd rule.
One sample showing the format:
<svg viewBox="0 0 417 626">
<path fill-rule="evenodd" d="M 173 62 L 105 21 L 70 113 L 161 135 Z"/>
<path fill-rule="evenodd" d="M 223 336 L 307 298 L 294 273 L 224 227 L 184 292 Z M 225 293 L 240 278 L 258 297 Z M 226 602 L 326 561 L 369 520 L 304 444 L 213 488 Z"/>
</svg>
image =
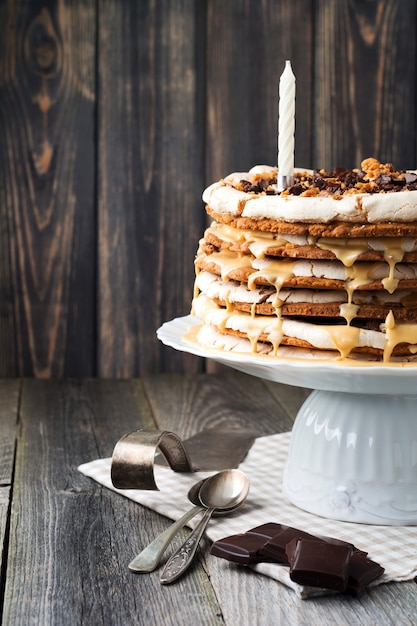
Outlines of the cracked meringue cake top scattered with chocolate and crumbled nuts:
<svg viewBox="0 0 417 626">
<path fill-rule="evenodd" d="M 277 192 L 277 168 L 257 165 L 234 172 L 203 193 L 222 214 L 288 222 L 360 223 L 417 221 L 417 172 L 396 170 L 377 159 L 358 169 L 296 169 L 294 184 Z"/>
</svg>

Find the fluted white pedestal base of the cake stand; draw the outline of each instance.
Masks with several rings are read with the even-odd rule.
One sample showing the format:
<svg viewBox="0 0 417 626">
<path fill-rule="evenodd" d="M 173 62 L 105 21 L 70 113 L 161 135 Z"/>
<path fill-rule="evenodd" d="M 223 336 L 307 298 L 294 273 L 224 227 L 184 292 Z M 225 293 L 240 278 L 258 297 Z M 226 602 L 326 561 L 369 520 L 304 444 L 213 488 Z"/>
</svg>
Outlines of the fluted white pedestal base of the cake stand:
<svg viewBox="0 0 417 626">
<path fill-rule="evenodd" d="M 417 524 L 417 395 L 313 391 L 291 435 L 283 489 L 322 517 Z"/>
</svg>

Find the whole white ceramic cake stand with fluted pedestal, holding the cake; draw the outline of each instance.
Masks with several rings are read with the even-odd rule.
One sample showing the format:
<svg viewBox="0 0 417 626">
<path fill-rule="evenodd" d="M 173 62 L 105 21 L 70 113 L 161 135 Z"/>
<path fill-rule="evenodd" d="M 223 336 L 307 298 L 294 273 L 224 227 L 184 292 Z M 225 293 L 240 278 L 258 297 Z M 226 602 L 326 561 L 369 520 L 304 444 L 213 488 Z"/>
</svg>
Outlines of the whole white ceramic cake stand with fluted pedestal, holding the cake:
<svg viewBox="0 0 417 626">
<path fill-rule="evenodd" d="M 347 522 L 417 524 L 417 363 L 320 361 L 237 354 L 184 339 L 192 316 L 161 326 L 177 350 L 314 389 L 292 429 L 283 489 L 292 504 Z"/>
</svg>

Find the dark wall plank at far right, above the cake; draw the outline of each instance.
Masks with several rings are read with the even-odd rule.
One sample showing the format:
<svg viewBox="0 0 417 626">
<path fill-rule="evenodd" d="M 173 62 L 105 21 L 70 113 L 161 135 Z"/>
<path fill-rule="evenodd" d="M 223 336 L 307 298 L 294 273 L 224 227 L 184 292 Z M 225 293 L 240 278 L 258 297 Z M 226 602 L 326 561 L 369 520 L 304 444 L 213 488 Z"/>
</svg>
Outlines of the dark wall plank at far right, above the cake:
<svg viewBox="0 0 417 626">
<path fill-rule="evenodd" d="M 313 166 L 416 163 L 416 2 L 317 0 Z"/>
</svg>

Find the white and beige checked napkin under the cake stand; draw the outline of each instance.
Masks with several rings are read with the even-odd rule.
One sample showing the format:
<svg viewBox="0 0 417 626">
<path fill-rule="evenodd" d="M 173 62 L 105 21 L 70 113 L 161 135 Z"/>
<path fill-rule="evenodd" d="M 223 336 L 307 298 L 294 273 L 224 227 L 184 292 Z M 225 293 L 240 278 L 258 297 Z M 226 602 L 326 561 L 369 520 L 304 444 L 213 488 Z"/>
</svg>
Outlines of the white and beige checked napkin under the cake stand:
<svg viewBox="0 0 417 626">
<path fill-rule="evenodd" d="M 206 531 L 209 539 L 216 541 L 266 522 L 277 522 L 313 535 L 337 537 L 367 551 L 369 558 L 385 568 L 385 573 L 373 584 L 413 579 L 417 575 L 417 526 L 374 526 L 339 522 L 307 513 L 288 502 L 282 493 L 281 484 L 289 439 L 290 433 L 256 439 L 246 459 L 239 466 L 250 479 L 248 499 L 235 513 L 212 518 Z M 191 485 L 213 473 L 183 474 L 155 465 L 155 479 L 160 491 L 120 490 L 112 485 L 110 467 L 111 459 L 98 459 L 80 465 L 78 469 L 109 489 L 173 520 L 179 519 L 190 508 L 187 493 Z M 192 520 L 189 525 L 194 526 L 196 523 Z M 224 564 L 225 567 L 230 567 L 227 561 Z M 253 569 L 291 587 L 300 598 L 326 593 L 292 582 L 288 567 L 284 565 L 259 563 Z"/>
</svg>

